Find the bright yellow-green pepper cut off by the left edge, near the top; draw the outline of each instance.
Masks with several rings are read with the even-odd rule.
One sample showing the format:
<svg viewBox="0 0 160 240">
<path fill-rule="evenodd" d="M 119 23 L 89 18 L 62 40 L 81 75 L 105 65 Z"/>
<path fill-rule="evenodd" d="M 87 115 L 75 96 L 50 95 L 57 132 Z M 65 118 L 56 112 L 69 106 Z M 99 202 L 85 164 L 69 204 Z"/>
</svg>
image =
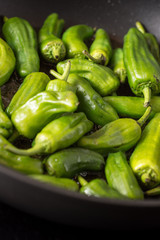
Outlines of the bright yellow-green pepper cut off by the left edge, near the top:
<svg viewBox="0 0 160 240">
<path fill-rule="evenodd" d="M 0 38 L 0 86 L 5 84 L 12 75 L 16 66 L 15 55 L 2 38 Z"/>
</svg>

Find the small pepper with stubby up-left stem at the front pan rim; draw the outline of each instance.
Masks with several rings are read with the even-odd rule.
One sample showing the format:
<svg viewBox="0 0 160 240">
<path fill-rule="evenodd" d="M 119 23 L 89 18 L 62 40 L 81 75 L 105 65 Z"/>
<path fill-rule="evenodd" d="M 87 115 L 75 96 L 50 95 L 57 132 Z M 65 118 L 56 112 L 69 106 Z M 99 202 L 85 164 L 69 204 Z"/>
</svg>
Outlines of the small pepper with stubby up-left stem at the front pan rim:
<svg viewBox="0 0 160 240">
<path fill-rule="evenodd" d="M 87 196 L 125 199 L 123 195 L 109 187 L 104 179 L 96 178 L 87 182 L 84 178 L 79 176 L 78 180 L 82 185 L 80 193 Z"/>
</svg>

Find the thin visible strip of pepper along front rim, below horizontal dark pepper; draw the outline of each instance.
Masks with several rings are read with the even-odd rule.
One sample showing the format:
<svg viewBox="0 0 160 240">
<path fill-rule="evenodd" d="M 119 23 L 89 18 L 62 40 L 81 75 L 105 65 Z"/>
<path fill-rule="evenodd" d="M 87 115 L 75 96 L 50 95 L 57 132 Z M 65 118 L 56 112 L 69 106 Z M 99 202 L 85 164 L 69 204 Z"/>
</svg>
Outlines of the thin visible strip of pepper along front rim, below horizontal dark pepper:
<svg viewBox="0 0 160 240">
<path fill-rule="evenodd" d="M 43 183 L 48 183 L 55 187 L 60 187 L 60 188 L 64 188 L 64 189 L 76 191 L 76 192 L 79 190 L 78 184 L 72 179 L 57 178 L 57 177 L 42 175 L 42 174 L 32 174 L 32 175 L 29 175 L 29 177 Z"/>
</svg>

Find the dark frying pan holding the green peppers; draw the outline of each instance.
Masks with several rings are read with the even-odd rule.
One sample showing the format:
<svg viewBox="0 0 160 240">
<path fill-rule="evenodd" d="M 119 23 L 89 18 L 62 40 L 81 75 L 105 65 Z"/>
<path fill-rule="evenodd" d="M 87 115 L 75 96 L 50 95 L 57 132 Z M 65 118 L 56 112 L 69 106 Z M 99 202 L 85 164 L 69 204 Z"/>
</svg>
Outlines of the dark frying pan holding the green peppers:
<svg viewBox="0 0 160 240">
<path fill-rule="evenodd" d="M 103 27 L 113 45 L 122 46 L 123 36 L 141 21 L 160 39 L 160 2 L 129 0 L 1 1 L 0 13 L 27 19 L 38 29 L 46 16 L 57 12 L 65 27 L 88 24 Z M 0 200 L 24 212 L 72 226 L 118 229 L 159 227 L 160 200 L 116 200 L 87 197 L 52 187 L 0 165 Z"/>
</svg>

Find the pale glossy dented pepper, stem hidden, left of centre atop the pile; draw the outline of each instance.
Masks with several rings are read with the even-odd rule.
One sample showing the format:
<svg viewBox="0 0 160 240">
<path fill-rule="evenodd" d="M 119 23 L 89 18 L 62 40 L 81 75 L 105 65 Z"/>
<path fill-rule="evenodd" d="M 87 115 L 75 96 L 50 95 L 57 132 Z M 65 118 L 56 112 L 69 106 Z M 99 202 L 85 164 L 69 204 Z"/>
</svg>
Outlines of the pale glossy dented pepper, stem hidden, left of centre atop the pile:
<svg viewBox="0 0 160 240">
<path fill-rule="evenodd" d="M 14 111 L 11 120 L 20 135 L 32 139 L 50 121 L 77 107 L 78 98 L 71 91 L 42 91 Z"/>
</svg>

